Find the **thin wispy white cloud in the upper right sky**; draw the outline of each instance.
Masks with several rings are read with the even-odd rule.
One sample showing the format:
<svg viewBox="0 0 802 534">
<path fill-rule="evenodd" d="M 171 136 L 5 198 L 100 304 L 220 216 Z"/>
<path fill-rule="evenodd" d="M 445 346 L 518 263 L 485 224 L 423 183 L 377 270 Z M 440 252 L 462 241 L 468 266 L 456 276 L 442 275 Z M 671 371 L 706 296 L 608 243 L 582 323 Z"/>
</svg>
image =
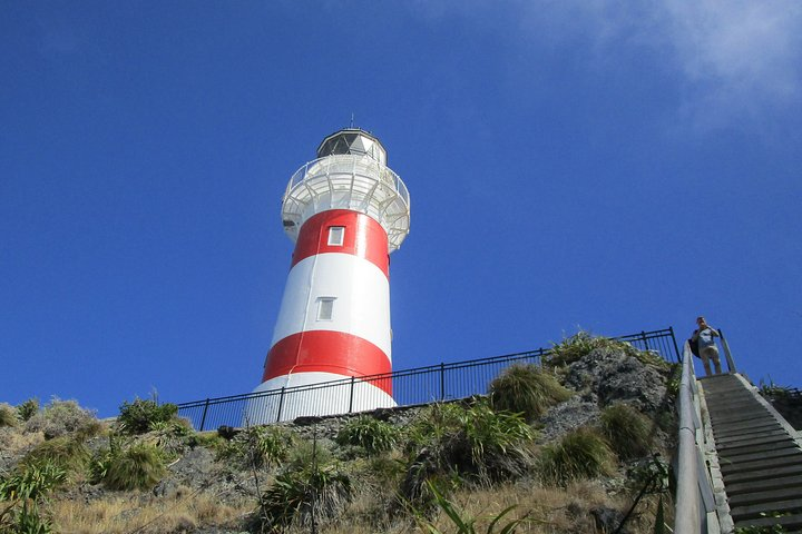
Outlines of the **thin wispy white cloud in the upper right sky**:
<svg viewBox="0 0 802 534">
<path fill-rule="evenodd" d="M 439 9 L 419 14 L 441 22 L 457 16 L 477 28 L 488 24 L 481 2 L 434 3 Z M 586 47 L 589 60 L 602 68 L 638 49 L 654 53 L 664 62 L 662 69 L 675 73 L 683 96 L 678 111 L 703 129 L 762 121 L 800 103 L 799 0 L 542 0 L 493 6 L 508 24 L 517 26 L 524 48 Z"/>
</svg>

